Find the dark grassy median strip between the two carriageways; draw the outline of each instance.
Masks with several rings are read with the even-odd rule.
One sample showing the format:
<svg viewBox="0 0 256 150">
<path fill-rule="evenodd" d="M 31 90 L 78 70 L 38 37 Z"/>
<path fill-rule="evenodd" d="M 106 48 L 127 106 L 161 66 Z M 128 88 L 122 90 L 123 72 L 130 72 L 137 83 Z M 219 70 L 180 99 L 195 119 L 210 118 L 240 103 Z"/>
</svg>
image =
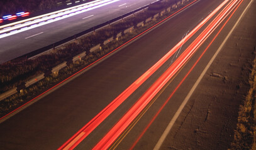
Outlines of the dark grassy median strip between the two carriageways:
<svg viewBox="0 0 256 150">
<path fill-rule="evenodd" d="M 38 94 L 51 88 L 55 84 L 64 80 L 71 74 L 76 73 L 80 69 L 88 66 L 104 55 L 108 54 L 116 47 L 121 46 L 126 41 L 137 36 L 141 32 L 145 31 L 149 27 L 153 26 L 156 22 L 165 19 L 170 14 L 174 13 L 177 9 L 170 9 L 165 11 L 164 14 L 159 15 L 152 21 L 145 22 L 148 17 L 153 17 L 156 13 L 160 13 L 166 10 L 176 1 L 156 2 L 147 9 L 147 11 L 138 12 L 134 16 L 127 17 L 122 21 L 115 22 L 110 26 L 106 26 L 99 29 L 96 32 L 87 34 L 77 38 L 75 41 L 68 42 L 62 46 L 56 47 L 47 53 L 40 54 L 33 59 L 19 58 L 12 61 L 8 61 L 0 65 L 0 94 L 17 87 L 18 93 L 9 96 L 6 99 L 0 101 L 0 116 L 15 109 L 17 106 L 26 103 L 32 98 L 35 98 Z M 137 27 L 139 22 L 144 22 L 143 26 Z M 128 27 L 134 27 L 132 32 L 124 33 L 124 30 Z M 116 39 L 118 33 L 122 33 L 122 36 Z M 114 37 L 114 40 L 104 45 L 104 41 L 109 37 Z M 90 52 L 91 47 L 101 44 L 101 49 L 98 51 Z M 86 51 L 86 57 L 81 61 L 75 63 L 72 62 L 74 56 Z M 67 67 L 60 70 L 58 74 L 52 74 L 52 68 L 60 63 L 67 61 Z M 25 88 L 25 83 L 31 78 L 34 78 L 38 74 L 45 74 L 45 78 L 42 81 Z"/>
</svg>

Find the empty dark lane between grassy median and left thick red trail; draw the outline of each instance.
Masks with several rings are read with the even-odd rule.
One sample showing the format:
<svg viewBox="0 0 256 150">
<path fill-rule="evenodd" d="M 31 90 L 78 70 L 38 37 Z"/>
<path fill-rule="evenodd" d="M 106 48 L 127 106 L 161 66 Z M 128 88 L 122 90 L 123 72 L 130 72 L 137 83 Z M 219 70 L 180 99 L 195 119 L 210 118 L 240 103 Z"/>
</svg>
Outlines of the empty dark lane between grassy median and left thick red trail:
<svg viewBox="0 0 256 150">
<path fill-rule="evenodd" d="M 220 2 L 199 1 L 177 15 L 179 17 L 170 19 L 149 32 L 147 36 L 141 37 L 82 76 L 6 120 L 0 124 L 1 133 L 3 133 L 1 145 L 6 149 L 58 148 L 162 58 L 177 42 L 181 41 L 184 34 L 191 30 L 191 26 L 196 26 L 201 18 L 206 17 L 208 12 L 216 8 Z M 201 11 L 196 11 L 199 8 Z M 107 121 L 104 121 L 104 124 L 99 126 L 99 130 L 92 133 L 86 139 L 87 141 L 82 143 L 82 148 L 90 149 L 90 146 L 94 146 L 97 139 L 118 121 L 122 114 L 145 92 L 145 89 L 169 66 L 169 63 L 130 96 L 128 101 L 125 101 Z M 38 148 L 42 144 L 44 147 Z"/>
</svg>

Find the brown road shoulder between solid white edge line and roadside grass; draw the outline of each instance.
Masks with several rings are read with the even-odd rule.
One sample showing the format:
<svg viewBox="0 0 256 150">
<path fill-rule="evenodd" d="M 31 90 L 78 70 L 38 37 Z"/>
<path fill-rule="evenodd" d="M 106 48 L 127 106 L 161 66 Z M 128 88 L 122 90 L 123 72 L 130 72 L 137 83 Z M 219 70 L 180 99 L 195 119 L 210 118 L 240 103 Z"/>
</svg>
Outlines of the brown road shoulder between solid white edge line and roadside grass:
<svg viewBox="0 0 256 150">
<path fill-rule="evenodd" d="M 192 95 L 162 149 L 228 149 L 255 58 L 256 1 Z"/>
</svg>

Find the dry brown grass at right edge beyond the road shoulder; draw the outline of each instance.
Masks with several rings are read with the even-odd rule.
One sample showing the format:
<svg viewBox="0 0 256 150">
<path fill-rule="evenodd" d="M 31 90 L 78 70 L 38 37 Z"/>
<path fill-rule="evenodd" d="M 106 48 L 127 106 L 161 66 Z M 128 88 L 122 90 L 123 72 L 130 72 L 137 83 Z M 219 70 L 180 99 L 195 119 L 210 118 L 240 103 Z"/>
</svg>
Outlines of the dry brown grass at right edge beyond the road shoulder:
<svg viewBox="0 0 256 150">
<path fill-rule="evenodd" d="M 256 149 L 256 59 L 249 78 L 250 90 L 240 105 L 231 149 Z"/>
</svg>

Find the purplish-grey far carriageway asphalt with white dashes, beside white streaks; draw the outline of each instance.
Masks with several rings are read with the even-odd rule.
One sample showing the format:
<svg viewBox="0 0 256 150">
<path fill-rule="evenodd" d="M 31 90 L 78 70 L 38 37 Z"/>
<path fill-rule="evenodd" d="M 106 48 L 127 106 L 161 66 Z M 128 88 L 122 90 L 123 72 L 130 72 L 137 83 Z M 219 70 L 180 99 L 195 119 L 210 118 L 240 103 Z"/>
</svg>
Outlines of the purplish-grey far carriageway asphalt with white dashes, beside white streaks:
<svg viewBox="0 0 256 150">
<path fill-rule="evenodd" d="M 155 0 L 120 0 L 102 6 L 101 8 L 96 8 L 60 21 L 1 38 L 0 63 L 30 53 L 41 47 L 48 46 L 54 42 L 65 39 L 65 37 L 85 31 L 86 29 L 97 26 L 98 24 L 114 19 L 115 17 L 126 14 L 127 12 L 154 1 Z"/>
</svg>

